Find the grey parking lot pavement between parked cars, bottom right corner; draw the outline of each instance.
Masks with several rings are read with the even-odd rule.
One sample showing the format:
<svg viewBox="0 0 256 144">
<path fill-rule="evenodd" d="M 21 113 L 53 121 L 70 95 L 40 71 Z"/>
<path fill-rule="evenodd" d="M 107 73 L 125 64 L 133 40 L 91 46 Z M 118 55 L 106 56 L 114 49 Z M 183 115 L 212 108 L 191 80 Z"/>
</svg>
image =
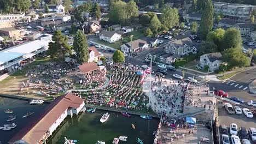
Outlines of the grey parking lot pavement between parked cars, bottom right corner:
<svg viewBox="0 0 256 144">
<path fill-rule="evenodd" d="M 232 105 L 233 107 L 236 105 Z M 240 106 L 241 107 L 241 106 Z M 241 107 L 241 109 L 243 109 L 244 107 Z M 240 137 L 240 127 L 245 127 L 247 130 L 249 130 L 249 128 L 255 128 L 256 127 L 256 119 L 255 116 L 253 118 L 247 118 L 245 116 L 245 114 L 242 112 L 242 115 L 237 115 L 237 114 L 228 114 L 228 112 L 225 110 L 224 107 L 218 107 L 218 115 L 219 115 L 219 124 L 220 125 L 226 125 L 226 127 L 228 127 L 228 135 L 229 135 L 229 139 L 230 139 L 230 143 L 231 143 L 231 134 L 230 134 L 230 124 L 231 123 L 235 123 L 237 124 L 237 129 L 238 129 L 238 136 Z M 220 131 L 220 135 L 222 135 L 221 131 Z M 248 134 L 247 134 L 248 135 Z M 249 140 L 252 142 L 252 138 L 251 136 L 249 136 Z M 221 140 L 222 137 L 220 137 Z M 241 139 L 242 140 L 242 139 Z M 222 140 L 221 140 L 222 142 Z M 241 141 L 242 143 L 242 141 Z"/>
</svg>

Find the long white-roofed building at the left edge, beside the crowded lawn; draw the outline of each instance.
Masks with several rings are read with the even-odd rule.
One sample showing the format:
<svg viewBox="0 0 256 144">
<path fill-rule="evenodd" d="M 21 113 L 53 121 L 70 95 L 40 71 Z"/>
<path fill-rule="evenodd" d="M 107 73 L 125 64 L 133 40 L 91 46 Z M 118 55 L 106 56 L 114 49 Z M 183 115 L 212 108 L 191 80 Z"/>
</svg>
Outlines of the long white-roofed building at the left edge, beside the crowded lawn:
<svg viewBox="0 0 256 144">
<path fill-rule="evenodd" d="M 21 61 L 25 61 L 48 50 L 48 43 L 51 40 L 51 36 L 50 34 L 44 34 L 42 39 L 27 41 L 26 43 L 0 51 L 0 70 L 16 69 L 20 66 Z"/>
</svg>

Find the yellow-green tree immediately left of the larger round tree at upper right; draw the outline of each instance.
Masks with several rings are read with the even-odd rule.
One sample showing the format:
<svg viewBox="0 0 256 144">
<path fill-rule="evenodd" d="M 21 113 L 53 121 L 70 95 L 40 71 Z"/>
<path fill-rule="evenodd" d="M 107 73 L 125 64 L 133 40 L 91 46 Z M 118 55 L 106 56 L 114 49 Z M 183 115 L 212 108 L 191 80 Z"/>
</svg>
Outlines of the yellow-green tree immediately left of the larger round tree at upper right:
<svg viewBox="0 0 256 144">
<path fill-rule="evenodd" d="M 206 41 L 212 41 L 218 47 L 221 47 L 223 45 L 224 35 L 225 35 L 225 30 L 222 28 L 218 28 L 208 33 Z"/>
</svg>

